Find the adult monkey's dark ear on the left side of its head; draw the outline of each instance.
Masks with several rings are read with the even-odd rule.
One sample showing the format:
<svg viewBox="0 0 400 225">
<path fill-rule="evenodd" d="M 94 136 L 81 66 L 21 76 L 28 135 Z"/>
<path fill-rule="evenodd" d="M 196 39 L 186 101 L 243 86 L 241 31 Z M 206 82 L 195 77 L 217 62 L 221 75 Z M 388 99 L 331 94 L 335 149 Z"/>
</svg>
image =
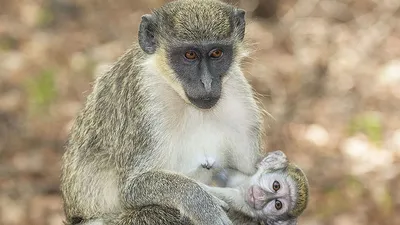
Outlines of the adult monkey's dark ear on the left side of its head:
<svg viewBox="0 0 400 225">
<path fill-rule="evenodd" d="M 139 45 L 148 54 L 153 54 L 157 49 L 156 19 L 154 15 L 145 14 L 139 26 Z"/>
</svg>

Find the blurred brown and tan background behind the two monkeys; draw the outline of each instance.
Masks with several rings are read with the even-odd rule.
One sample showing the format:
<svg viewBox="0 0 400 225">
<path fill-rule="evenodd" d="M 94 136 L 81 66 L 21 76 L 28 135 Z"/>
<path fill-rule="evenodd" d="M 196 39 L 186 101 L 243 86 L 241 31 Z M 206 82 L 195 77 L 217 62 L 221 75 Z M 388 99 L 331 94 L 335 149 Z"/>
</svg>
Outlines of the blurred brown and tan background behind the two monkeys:
<svg viewBox="0 0 400 225">
<path fill-rule="evenodd" d="M 163 0 L 0 0 L 0 224 L 61 225 L 60 157 Z M 400 1 L 242 0 L 266 150 L 308 175 L 304 225 L 400 224 Z"/>
</svg>

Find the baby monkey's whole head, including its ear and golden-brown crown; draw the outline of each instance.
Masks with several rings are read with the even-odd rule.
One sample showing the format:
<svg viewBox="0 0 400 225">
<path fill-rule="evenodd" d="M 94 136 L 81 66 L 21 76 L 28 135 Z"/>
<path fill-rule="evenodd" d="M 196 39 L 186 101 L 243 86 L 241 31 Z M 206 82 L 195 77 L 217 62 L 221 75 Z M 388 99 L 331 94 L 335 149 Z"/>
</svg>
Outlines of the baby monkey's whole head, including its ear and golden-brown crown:
<svg viewBox="0 0 400 225">
<path fill-rule="evenodd" d="M 281 151 L 276 151 L 283 154 Z M 275 154 L 275 152 L 273 152 Z M 275 162 L 277 162 L 274 164 Z M 309 185 L 305 173 L 286 156 L 267 156 L 258 165 L 245 199 L 267 224 L 294 225 L 306 209 Z"/>
</svg>

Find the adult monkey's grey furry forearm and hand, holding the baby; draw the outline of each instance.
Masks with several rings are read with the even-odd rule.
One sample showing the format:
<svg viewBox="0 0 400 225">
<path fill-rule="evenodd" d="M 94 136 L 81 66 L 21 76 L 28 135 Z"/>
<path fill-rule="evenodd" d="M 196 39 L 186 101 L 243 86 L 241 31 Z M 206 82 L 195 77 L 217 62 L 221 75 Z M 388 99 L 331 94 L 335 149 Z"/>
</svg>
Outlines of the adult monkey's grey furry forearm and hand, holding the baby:
<svg viewBox="0 0 400 225">
<path fill-rule="evenodd" d="M 223 207 L 227 204 L 204 190 L 196 181 L 165 172 L 142 173 L 125 182 L 128 207 L 160 205 L 176 208 L 194 224 L 232 225 Z"/>
</svg>

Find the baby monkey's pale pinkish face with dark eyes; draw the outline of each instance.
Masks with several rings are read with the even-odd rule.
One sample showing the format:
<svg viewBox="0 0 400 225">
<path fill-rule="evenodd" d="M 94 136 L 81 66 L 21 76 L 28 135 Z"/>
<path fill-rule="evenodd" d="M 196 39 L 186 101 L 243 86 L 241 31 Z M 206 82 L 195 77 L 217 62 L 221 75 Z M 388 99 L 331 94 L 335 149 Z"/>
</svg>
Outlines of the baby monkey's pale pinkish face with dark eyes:
<svg viewBox="0 0 400 225">
<path fill-rule="evenodd" d="M 251 179 L 245 192 L 245 201 L 259 218 L 287 221 L 288 212 L 296 202 L 296 184 L 281 170 L 267 173 L 259 171 Z"/>
</svg>

